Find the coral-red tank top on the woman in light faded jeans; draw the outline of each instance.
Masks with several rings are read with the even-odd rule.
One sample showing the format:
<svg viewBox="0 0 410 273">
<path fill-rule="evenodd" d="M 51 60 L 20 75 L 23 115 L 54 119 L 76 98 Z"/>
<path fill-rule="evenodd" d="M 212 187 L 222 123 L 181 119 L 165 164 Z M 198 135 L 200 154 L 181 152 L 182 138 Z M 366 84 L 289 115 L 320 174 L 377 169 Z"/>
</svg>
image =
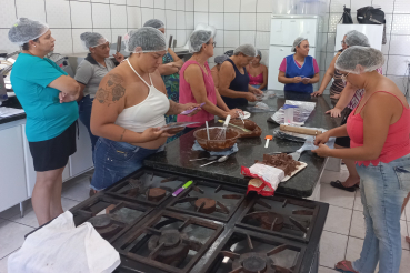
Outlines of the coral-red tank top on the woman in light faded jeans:
<svg viewBox="0 0 410 273">
<path fill-rule="evenodd" d="M 378 92 L 383 92 L 383 93 L 394 95 L 386 91 L 378 91 Z M 378 93 L 378 92 L 374 92 L 374 93 Z M 389 133 L 388 133 L 388 136 L 386 139 L 383 149 L 381 150 L 379 158 L 377 160 L 357 161 L 356 163 L 358 163 L 359 165 L 364 164 L 366 166 L 369 166 L 370 163 L 372 163 L 373 165 L 378 165 L 380 161 L 383 163 L 389 163 L 393 160 L 400 159 L 410 153 L 410 140 L 409 140 L 410 108 L 409 109 L 406 108 L 406 105 L 401 102 L 401 100 L 397 95 L 394 97 L 400 101 L 401 105 L 403 107 L 403 112 L 401 113 L 400 119 L 396 123 L 389 127 Z M 366 103 L 363 108 L 366 107 Z M 358 107 L 356 107 L 354 110 L 351 112 L 351 114 L 348 118 L 348 122 L 347 122 L 347 130 L 350 136 L 351 148 L 362 146 L 363 139 L 364 139 L 363 119 L 360 115 L 361 110 L 359 113 L 356 113 L 356 110 Z"/>
</svg>

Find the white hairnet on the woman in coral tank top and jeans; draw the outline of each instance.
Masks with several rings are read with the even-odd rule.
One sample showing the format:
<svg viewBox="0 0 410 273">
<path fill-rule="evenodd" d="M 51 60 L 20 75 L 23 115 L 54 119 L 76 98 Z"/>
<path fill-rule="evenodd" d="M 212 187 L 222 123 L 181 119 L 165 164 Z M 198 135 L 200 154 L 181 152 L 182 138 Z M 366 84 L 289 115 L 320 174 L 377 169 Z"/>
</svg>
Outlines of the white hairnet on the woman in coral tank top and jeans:
<svg viewBox="0 0 410 273">
<path fill-rule="evenodd" d="M 371 72 L 384 64 L 381 51 L 370 47 L 350 47 L 336 61 L 334 68 L 352 74 Z"/>
</svg>

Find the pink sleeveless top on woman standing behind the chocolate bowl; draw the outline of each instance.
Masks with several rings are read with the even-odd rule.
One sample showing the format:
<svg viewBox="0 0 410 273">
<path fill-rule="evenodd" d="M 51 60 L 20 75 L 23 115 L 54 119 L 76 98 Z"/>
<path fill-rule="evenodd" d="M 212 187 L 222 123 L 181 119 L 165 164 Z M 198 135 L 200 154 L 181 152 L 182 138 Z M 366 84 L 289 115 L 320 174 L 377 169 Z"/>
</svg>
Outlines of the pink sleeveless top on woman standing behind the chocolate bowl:
<svg viewBox="0 0 410 273">
<path fill-rule="evenodd" d="M 189 85 L 189 83 L 183 78 L 183 73 L 184 73 L 186 69 L 191 64 L 199 65 L 199 63 L 197 61 L 188 61 L 182 65 L 182 68 L 180 70 L 179 103 L 182 103 L 182 104 L 189 103 L 189 102 L 198 103 L 196 98 L 192 94 L 191 87 Z M 207 98 L 210 102 L 212 102 L 213 104 L 217 105 L 217 93 L 216 93 L 216 90 L 214 90 L 213 78 L 212 78 L 212 74 L 211 74 L 211 70 L 209 69 L 208 62 L 204 63 L 204 67 L 207 69 L 208 75 L 203 72 L 201 67 L 200 67 L 200 69 L 202 71 L 203 82 L 206 84 Z M 201 122 L 201 123 L 197 123 L 196 125 L 191 125 L 191 128 L 201 127 L 201 125 L 204 124 L 206 121 L 211 121 L 213 119 L 214 119 L 214 115 L 211 114 L 211 113 L 208 113 L 203 109 L 202 109 L 202 111 L 199 111 L 196 115 L 188 117 L 188 115 L 179 114 L 178 118 L 177 118 L 178 122 L 189 122 L 189 121 Z"/>
</svg>

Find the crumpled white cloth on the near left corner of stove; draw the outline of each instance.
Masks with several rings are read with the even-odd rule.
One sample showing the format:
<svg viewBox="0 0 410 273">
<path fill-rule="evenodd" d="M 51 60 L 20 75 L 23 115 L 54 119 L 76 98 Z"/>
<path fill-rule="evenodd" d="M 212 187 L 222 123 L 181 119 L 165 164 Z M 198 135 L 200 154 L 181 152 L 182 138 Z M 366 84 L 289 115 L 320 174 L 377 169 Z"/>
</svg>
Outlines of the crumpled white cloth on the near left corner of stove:
<svg viewBox="0 0 410 273">
<path fill-rule="evenodd" d="M 67 211 L 30 234 L 9 256 L 9 273 L 108 273 L 120 264 L 120 255 L 94 228 L 74 226 Z"/>
</svg>

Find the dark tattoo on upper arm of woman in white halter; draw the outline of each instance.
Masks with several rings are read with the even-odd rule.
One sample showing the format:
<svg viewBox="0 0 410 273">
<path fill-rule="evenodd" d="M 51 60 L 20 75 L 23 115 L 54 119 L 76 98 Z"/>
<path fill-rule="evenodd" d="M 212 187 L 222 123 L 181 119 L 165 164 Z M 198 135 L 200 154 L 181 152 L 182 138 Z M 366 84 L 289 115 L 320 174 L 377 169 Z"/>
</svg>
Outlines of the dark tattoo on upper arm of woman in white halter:
<svg viewBox="0 0 410 273">
<path fill-rule="evenodd" d="M 96 99 L 100 103 L 114 103 L 126 94 L 126 88 L 122 87 L 123 79 L 119 74 L 110 74 L 104 88 L 99 88 Z"/>
</svg>

